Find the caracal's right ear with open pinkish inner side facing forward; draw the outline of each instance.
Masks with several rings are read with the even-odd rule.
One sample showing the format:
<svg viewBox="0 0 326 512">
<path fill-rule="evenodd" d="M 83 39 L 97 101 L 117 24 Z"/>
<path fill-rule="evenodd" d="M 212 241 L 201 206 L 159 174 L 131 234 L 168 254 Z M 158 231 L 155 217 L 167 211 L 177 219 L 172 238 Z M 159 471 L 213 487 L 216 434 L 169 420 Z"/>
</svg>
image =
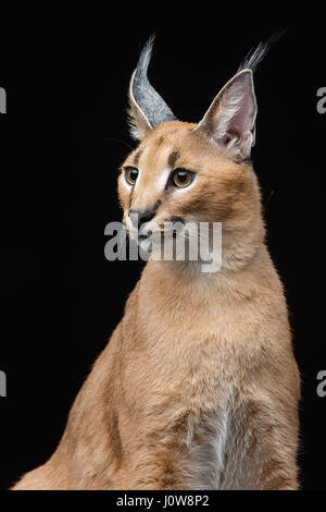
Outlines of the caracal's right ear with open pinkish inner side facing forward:
<svg viewBox="0 0 326 512">
<path fill-rule="evenodd" d="M 204 133 L 220 150 L 243 159 L 254 145 L 255 117 L 252 71 L 246 69 L 227 82 L 195 130 Z"/>
</svg>

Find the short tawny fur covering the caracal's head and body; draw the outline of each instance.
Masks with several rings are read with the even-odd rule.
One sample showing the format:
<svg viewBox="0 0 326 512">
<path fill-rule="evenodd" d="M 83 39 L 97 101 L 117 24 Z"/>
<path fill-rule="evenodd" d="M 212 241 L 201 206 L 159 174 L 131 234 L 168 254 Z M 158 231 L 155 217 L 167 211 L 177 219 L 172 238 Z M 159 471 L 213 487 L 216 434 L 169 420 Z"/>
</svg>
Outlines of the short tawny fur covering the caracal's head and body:
<svg viewBox="0 0 326 512">
<path fill-rule="evenodd" d="M 251 81 L 240 71 L 198 125 L 151 118 L 131 83 L 141 142 L 124 166 L 140 176 L 133 188 L 123 170 L 118 178 L 126 229 L 130 207 L 154 209 L 160 227 L 175 217 L 222 222 L 222 269 L 146 265 L 55 453 L 15 489 L 298 488 L 299 374 L 248 160 Z M 227 111 L 237 98 L 247 101 L 240 123 L 238 107 Z M 155 112 L 173 115 L 164 105 Z M 166 187 L 173 168 L 197 173 L 188 190 Z"/>
</svg>

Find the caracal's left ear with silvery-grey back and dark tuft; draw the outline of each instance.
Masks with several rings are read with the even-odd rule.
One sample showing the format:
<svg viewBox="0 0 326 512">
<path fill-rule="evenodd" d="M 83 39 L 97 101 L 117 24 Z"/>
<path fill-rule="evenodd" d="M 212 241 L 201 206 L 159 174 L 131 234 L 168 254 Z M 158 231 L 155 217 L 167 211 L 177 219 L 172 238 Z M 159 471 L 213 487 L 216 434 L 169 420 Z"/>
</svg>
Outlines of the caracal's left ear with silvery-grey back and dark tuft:
<svg viewBox="0 0 326 512">
<path fill-rule="evenodd" d="M 131 136 L 136 139 L 143 138 L 158 124 L 176 119 L 147 77 L 153 40 L 151 37 L 141 51 L 129 86 L 128 115 Z"/>
</svg>

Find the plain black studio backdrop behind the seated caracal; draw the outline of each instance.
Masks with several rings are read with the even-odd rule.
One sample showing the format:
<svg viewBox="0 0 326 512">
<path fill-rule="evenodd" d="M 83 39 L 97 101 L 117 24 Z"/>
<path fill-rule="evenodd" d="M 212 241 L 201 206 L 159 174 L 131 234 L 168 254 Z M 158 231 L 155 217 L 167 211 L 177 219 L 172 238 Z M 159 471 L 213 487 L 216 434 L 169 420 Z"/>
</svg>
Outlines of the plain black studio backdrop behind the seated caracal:
<svg viewBox="0 0 326 512">
<path fill-rule="evenodd" d="M 103 256 L 142 45 L 156 33 L 150 78 L 179 119 L 199 121 L 247 52 L 291 27 L 255 73 L 253 161 L 302 374 L 301 481 L 325 489 L 325 2 L 26 3 L 2 12 L 0 35 L 0 487 L 55 449 L 142 267 Z"/>
</svg>

